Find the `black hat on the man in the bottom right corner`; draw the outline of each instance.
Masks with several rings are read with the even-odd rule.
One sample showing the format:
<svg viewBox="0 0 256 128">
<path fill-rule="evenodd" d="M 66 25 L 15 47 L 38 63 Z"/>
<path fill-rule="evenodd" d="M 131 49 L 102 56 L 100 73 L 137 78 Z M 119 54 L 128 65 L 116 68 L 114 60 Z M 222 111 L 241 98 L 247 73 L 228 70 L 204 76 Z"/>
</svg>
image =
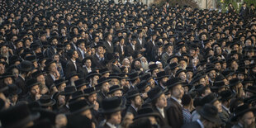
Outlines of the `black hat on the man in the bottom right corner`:
<svg viewBox="0 0 256 128">
<path fill-rule="evenodd" d="M 249 104 L 244 103 L 243 105 L 236 107 L 233 116 L 231 116 L 230 121 L 237 121 L 239 116 L 243 116 L 246 112 L 256 111 L 256 107 L 249 107 Z"/>
</svg>

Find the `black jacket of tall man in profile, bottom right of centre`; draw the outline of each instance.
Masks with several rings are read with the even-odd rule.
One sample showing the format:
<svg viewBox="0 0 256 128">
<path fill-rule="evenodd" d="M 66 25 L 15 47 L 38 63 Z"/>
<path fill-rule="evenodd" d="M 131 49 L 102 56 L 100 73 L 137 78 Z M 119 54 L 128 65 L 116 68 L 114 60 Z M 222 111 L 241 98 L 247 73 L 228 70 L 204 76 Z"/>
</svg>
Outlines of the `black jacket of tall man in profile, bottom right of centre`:
<svg viewBox="0 0 256 128">
<path fill-rule="evenodd" d="M 183 107 L 173 98 L 169 98 L 168 102 L 170 104 L 166 111 L 168 124 L 173 128 L 180 128 L 183 126 Z"/>
</svg>

